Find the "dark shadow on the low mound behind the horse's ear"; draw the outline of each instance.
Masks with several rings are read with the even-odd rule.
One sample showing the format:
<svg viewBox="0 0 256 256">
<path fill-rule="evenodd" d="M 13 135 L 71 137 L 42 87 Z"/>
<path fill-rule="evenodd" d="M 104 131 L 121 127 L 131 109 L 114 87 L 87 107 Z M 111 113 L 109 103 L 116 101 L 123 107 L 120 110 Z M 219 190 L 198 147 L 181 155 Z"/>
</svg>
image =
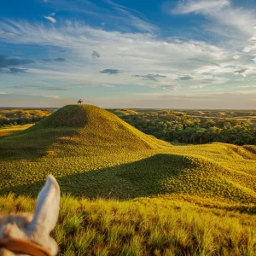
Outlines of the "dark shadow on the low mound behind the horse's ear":
<svg viewBox="0 0 256 256">
<path fill-rule="evenodd" d="M 57 177 L 57 180 L 62 193 L 91 199 L 101 197 L 127 200 L 166 193 L 162 182 L 167 177 L 182 174 L 189 166 L 190 160 L 181 155 L 156 154 L 129 164 Z M 0 195 L 14 192 L 17 195 L 36 196 L 43 184 L 38 182 L 1 189 Z"/>
</svg>

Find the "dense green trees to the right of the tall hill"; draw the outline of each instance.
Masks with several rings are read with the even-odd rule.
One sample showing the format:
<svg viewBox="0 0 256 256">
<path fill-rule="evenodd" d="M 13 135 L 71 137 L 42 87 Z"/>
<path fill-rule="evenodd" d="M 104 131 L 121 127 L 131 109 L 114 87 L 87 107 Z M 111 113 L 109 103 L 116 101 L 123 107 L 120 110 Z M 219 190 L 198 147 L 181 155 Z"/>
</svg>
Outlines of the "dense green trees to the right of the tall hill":
<svg viewBox="0 0 256 256">
<path fill-rule="evenodd" d="M 172 111 L 128 114 L 120 118 L 138 130 L 168 142 L 256 144 L 256 128 L 249 119 L 193 118 Z"/>
</svg>

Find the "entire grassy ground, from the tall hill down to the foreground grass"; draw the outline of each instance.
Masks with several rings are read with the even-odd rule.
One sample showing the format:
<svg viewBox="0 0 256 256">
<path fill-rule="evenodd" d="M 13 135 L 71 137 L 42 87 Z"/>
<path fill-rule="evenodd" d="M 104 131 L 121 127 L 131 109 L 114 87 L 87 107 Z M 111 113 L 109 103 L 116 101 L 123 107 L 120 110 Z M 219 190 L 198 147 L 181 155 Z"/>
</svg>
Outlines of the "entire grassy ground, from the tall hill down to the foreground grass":
<svg viewBox="0 0 256 256">
<path fill-rule="evenodd" d="M 106 110 L 72 105 L 1 138 L 0 173 L 1 195 L 24 195 L 1 197 L 5 212 L 32 211 L 26 196 L 57 177 L 61 255 L 256 253 L 252 145 L 173 146 Z"/>
</svg>

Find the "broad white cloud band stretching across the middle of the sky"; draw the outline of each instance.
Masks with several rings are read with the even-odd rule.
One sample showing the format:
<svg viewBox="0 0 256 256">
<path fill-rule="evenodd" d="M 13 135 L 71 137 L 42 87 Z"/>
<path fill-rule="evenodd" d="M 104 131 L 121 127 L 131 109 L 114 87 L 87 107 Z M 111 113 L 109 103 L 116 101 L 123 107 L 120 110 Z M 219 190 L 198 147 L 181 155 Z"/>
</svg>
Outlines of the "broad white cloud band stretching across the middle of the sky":
<svg viewBox="0 0 256 256">
<path fill-rule="evenodd" d="M 229 7 L 230 8 L 230 7 Z M 50 14 L 54 16 L 55 14 Z M 34 44 L 65 49 L 66 61 L 54 61 L 30 68 L 32 75 L 49 79 L 65 79 L 75 86 L 113 87 L 118 84 L 148 86 L 159 90 L 198 89 L 212 84 L 225 84 L 225 75 L 256 73 L 241 52 L 195 40 L 159 38 L 154 32 L 104 31 L 85 26 L 83 22 L 66 20 L 58 26 L 32 24 L 26 21 L 0 21 L 0 40 L 9 44 Z M 93 50 L 101 58 L 91 58 Z M 62 55 L 62 54 L 61 54 Z M 249 59 L 252 61 L 252 57 Z M 117 76 L 99 73 L 119 69 Z M 244 70 L 244 71 L 243 71 Z M 163 79 L 143 81 L 141 77 L 159 73 Z M 134 74 L 139 76 L 135 77 Z M 190 75 L 193 79 L 177 79 Z M 225 76 L 225 77 L 224 77 Z M 76 83 L 74 83 L 77 81 Z"/>
</svg>

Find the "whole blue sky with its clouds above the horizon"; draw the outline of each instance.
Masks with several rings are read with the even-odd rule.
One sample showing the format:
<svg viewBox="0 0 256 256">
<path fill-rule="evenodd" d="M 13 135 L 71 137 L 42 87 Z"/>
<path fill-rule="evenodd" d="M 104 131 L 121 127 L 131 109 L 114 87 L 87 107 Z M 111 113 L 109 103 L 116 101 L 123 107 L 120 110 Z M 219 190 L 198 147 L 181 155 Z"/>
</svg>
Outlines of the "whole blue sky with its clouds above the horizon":
<svg viewBox="0 0 256 256">
<path fill-rule="evenodd" d="M 0 107 L 256 106 L 253 0 L 9 0 Z"/>
</svg>

